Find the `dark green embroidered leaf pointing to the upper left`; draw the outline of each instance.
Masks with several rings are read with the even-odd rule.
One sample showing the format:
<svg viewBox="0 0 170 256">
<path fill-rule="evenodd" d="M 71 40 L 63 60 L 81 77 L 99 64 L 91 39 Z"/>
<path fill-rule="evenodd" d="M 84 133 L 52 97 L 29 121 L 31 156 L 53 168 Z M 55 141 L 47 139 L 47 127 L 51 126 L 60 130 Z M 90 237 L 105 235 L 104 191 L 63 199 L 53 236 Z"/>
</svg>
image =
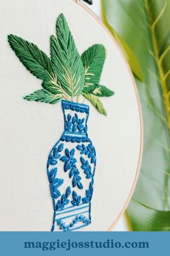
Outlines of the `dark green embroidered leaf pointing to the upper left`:
<svg viewBox="0 0 170 256">
<path fill-rule="evenodd" d="M 49 79 L 49 74 L 53 74 L 53 68 L 50 59 L 43 51 L 34 43 L 29 43 L 17 35 L 8 35 L 8 40 L 24 67 L 37 78 Z"/>
</svg>

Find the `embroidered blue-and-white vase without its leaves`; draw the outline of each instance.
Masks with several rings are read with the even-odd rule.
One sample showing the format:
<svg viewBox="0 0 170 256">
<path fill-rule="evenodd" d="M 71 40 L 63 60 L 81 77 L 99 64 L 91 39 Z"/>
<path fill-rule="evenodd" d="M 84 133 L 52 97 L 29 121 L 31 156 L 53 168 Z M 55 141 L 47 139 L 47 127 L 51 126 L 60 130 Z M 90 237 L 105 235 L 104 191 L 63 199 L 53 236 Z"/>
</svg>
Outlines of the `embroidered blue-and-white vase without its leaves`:
<svg viewBox="0 0 170 256">
<path fill-rule="evenodd" d="M 87 134 L 89 106 L 62 101 L 64 132 L 48 157 L 53 197 L 51 231 L 73 231 L 91 223 L 91 198 L 97 158 Z"/>
</svg>

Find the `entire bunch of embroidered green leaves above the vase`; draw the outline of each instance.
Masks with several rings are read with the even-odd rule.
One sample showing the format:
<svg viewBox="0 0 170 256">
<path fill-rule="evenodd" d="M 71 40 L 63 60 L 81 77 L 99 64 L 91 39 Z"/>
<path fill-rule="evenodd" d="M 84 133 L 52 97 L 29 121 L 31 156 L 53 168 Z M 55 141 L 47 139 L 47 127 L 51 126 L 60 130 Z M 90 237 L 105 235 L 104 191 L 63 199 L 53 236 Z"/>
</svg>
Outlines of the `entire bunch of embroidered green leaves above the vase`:
<svg viewBox="0 0 170 256">
<path fill-rule="evenodd" d="M 42 89 L 24 96 L 24 99 L 56 104 L 62 99 L 73 101 L 74 97 L 79 102 L 79 95 L 83 95 L 106 116 L 99 97 L 109 97 L 114 93 L 99 85 L 106 58 L 104 46 L 95 44 L 80 56 L 63 14 L 58 16 L 56 35 L 50 36 L 50 58 L 34 43 L 17 35 L 8 35 L 9 45 L 24 67 L 42 80 Z"/>
</svg>

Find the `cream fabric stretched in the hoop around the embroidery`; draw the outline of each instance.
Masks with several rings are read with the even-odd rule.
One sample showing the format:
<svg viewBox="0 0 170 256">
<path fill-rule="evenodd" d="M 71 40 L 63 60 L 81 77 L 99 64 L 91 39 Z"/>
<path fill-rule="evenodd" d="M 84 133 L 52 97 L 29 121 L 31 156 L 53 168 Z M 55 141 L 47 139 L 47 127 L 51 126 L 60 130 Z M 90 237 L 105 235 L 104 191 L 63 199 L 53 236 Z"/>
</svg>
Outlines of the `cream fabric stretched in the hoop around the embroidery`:
<svg viewBox="0 0 170 256">
<path fill-rule="evenodd" d="M 103 99 L 107 118 L 91 107 L 89 137 L 97 148 L 98 166 L 93 222 L 87 229 L 106 231 L 128 199 L 140 150 L 138 104 L 125 61 L 99 23 L 73 1 L 6 0 L 1 5 L 0 230 L 50 230 L 53 207 L 45 166 L 50 148 L 63 132 L 60 104 L 22 99 L 40 89 L 40 80 L 20 64 L 6 35 L 19 35 L 49 54 L 49 37 L 63 12 L 80 53 L 94 43 L 107 48 L 101 84 L 115 90 L 115 96 Z"/>
</svg>

